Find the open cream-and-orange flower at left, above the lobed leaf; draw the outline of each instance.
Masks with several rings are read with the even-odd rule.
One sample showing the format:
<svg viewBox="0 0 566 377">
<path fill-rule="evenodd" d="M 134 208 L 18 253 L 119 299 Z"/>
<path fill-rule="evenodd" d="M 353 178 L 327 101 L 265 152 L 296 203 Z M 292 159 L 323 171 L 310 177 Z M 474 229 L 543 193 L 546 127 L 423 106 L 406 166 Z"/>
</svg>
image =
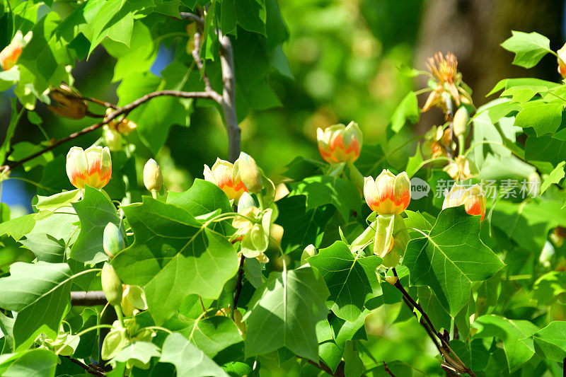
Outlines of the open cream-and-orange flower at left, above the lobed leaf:
<svg viewBox="0 0 566 377">
<path fill-rule="evenodd" d="M 101 189 L 112 175 L 112 160 L 108 146 L 91 146 L 83 151 L 74 146 L 67 153 L 67 176 L 74 187 L 83 189 L 85 185 Z"/>
</svg>

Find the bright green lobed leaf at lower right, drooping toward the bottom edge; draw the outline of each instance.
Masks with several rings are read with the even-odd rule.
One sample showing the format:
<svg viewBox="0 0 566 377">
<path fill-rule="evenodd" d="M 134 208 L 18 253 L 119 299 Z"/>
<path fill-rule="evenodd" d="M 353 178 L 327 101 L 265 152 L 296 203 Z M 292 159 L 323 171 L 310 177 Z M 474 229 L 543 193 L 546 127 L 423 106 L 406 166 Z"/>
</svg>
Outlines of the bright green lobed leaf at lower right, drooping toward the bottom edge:
<svg viewBox="0 0 566 377">
<path fill-rule="evenodd" d="M 533 338 L 538 327 L 528 320 L 509 320 L 499 315 L 482 315 L 473 323 L 478 332 L 474 339 L 497 337 L 503 341 L 509 372 L 514 372 L 525 364 L 535 353 Z"/>
</svg>

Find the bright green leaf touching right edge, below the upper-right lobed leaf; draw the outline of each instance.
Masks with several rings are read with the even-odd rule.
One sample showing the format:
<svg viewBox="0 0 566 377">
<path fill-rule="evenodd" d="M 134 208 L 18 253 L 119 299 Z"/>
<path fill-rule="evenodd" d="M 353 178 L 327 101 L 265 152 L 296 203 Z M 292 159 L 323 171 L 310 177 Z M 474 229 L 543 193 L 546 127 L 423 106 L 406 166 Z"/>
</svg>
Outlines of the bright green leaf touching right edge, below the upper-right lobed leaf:
<svg viewBox="0 0 566 377">
<path fill-rule="evenodd" d="M 515 117 L 514 126 L 533 127 L 537 136 L 553 134 L 562 123 L 563 103 L 543 103 L 532 101 L 523 105 L 523 110 Z"/>
</svg>

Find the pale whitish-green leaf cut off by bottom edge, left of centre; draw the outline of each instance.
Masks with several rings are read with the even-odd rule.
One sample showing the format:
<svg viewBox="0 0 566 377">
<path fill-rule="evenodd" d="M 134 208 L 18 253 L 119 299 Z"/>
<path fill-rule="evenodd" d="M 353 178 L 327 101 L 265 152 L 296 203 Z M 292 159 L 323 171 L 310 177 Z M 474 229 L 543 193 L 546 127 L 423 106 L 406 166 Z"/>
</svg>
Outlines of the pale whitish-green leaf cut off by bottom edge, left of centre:
<svg viewBox="0 0 566 377">
<path fill-rule="evenodd" d="M 229 377 L 220 366 L 180 334 L 167 337 L 159 361 L 174 364 L 179 377 Z"/>
</svg>

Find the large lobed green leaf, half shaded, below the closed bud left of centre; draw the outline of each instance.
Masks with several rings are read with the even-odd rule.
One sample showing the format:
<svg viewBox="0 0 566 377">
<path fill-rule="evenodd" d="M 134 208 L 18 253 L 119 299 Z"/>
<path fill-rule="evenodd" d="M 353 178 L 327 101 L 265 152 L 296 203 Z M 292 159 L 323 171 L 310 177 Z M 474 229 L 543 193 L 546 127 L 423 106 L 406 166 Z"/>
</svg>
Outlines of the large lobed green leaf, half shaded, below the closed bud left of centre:
<svg viewBox="0 0 566 377">
<path fill-rule="evenodd" d="M 231 243 L 185 209 L 150 197 L 122 209 L 135 240 L 112 265 L 122 282 L 144 287 L 156 324 L 178 311 L 189 294 L 218 298 L 236 274 L 238 257 Z"/>
</svg>

